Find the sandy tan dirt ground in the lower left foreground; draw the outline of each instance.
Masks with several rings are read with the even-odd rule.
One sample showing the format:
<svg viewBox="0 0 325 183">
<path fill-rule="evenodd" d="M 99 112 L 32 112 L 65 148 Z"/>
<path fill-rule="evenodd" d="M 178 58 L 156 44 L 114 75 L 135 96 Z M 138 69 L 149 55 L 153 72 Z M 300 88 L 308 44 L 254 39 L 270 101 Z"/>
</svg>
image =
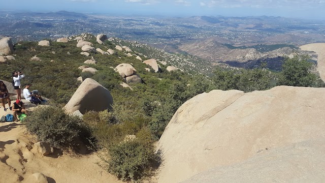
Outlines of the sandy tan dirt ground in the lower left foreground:
<svg viewBox="0 0 325 183">
<path fill-rule="evenodd" d="M 32 107 L 26 103 L 27 109 Z M 8 113 L 0 108 L 0 117 Z M 95 154 L 76 156 L 57 149 L 42 156 L 32 149 L 34 143 L 20 122 L 0 123 L 0 182 L 27 183 L 34 173 L 43 173 L 49 183 L 122 182 L 95 164 L 99 161 Z"/>
</svg>

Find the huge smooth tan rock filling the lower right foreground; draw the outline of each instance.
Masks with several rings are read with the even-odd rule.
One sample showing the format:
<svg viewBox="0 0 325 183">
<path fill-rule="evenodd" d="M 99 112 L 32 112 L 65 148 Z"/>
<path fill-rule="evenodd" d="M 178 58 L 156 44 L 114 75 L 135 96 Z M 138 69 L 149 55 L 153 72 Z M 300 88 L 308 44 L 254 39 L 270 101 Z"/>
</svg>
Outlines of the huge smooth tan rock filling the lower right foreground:
<svg viewBox="0 0 325 183">
<path fill-rule="evenodd" d="M 159 139 L 164 165 L 158 182 L 181 182 L 198 173 L 210 181 L 193 177 L 188 182 L 325 178 L 320 170 L 325 160 L 318 158 L 325 148 L 324 92 L 277 86 L 246 94 L 212 90 L 193 97 L 176 111 Z M 216 180 L 204 176 L 209 169 Z"/>
</svg>

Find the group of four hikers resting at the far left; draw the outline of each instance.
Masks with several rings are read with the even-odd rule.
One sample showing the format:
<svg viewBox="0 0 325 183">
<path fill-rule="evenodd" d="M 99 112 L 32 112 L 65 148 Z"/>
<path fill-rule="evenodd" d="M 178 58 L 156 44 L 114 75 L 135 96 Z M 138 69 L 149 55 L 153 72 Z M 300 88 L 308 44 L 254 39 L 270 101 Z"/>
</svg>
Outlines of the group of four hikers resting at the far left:
<svg viewBox="0 0 325 183">
<path fill-rule="evenodd" d="M 25 75 L 22 72 L 18 72 L 18 71 L 13 72 L 13 86 L 17 93 L 17 100 L 14 102 L 12 106 L 11 106 L 11 100 L 9 98 L 10 96 L 9 96 L 7 86 L 3 81 L 0 81 L 0 99 L 2 102 L 2 106 L 4 107 L 4 111 L 7 111 L 7 109 L 13 111 L 15 121 L 18 121 L 17 114 L 20 115 L 21 113 L 25 113 L 25 114 L 28 113 L 27 110 L 25 109 L 23 102 L 21 101 L 20 80 L 24 77 Z M 32 92 L 29 92 L 28 89 L 30 86 L 31 84 L 25 85 L 25 88 L 23 89 L 24 98 L 34 104 L 41 104 L 42 102 L 44 102 L 41 95 L 38 95 L 38 90 L 32 90 Z M 8 101 L 8 105 L 9 105 L 8 108 L 6 108 L 5 100 Z"/>
</svg>

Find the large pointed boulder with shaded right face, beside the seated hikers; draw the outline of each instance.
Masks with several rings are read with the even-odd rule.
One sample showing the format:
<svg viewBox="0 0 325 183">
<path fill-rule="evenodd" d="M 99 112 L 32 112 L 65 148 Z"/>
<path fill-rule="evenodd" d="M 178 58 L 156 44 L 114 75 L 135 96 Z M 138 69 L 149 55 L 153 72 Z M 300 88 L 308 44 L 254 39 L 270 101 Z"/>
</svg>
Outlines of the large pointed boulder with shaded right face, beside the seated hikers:
<svg viewBox="0 0 325 183">
<path fill-rule="evenodd" d="M 64 108 L 68 113 L 79 110 L 82 114 L 87 111 L 103 111 L 111 109 L 113 98 L 108 89 L 97 81 L 86 78 L 78 87 Z"/>
</svg>

